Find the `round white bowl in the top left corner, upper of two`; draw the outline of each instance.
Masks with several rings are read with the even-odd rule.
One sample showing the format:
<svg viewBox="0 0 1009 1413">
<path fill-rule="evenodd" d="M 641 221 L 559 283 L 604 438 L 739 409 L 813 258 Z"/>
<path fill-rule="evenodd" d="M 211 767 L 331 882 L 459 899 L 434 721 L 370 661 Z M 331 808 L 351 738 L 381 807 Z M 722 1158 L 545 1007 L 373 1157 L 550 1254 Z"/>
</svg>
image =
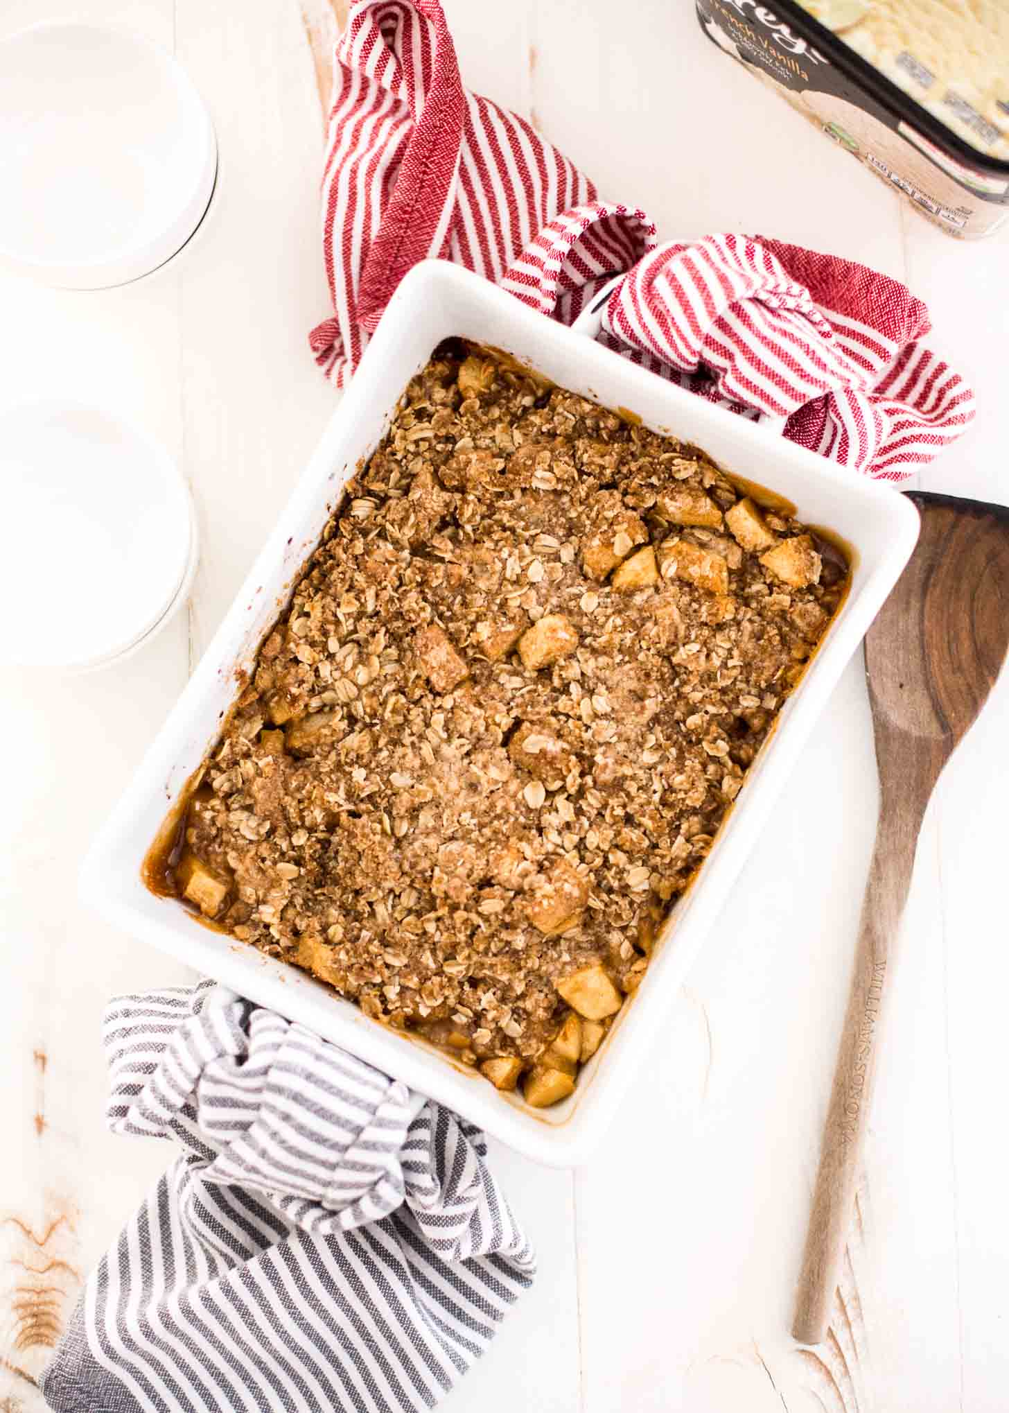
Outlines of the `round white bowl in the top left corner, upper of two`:
<svg viewBox="0 0 1009 1413">
<path fill-rule="evenodd" d="M 0 41 L 0 259 L 102 290 L 174 256 L 206 212 L 213 126 L 182 66 L 130 30 L 45 23 Z"/>
</svg>

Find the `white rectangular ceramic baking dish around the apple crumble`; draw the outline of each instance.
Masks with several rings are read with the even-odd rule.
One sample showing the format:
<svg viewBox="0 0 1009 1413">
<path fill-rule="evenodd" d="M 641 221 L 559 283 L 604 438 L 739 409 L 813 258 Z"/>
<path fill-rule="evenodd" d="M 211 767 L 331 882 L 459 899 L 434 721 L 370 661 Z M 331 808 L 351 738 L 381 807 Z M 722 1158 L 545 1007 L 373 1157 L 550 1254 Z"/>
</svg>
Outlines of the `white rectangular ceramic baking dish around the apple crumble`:
<svg viewBox="0 0 1009 1413">
<path fill-rule="evenodd" d="M 174 899 L 140 880 L 146 849 L 187 779 L 213 742 L 236 691 L 236 671 L 257 646 L 293 578 L 317 544 L 345 480 L 379 442 L 413 373 L 448 335 L 513 353 L 564 387 L 629 408 L 659 430 L 702 447 L 728 472 L 769 486 L 803 519 L 828 526 L 855 550 L 851 593 L 835 617 L 779 729 L 766 742 L 694 887 L 680 901 L 633 999 L 574 1095 L 529 1109 L 441 1051 L 369 1020 L 305 972 L 201 926 Z M 86 899 L 112 923 L 264 1006 L 311 1026 L 363 1060 L 479 1123 L 543 1163 L 581 1161 L 602 1133 L 677 989 L 718 916 L 774 796 L 858 647 L 917 536 L 917 512 L 892 489 L 861 479 L 714 407 L 616 353 L 519 304 L 486 281 L 425 261 L 400 285 L 291 500 L 136 779 L 95 841 L 82 872 Z"/>
</svg>

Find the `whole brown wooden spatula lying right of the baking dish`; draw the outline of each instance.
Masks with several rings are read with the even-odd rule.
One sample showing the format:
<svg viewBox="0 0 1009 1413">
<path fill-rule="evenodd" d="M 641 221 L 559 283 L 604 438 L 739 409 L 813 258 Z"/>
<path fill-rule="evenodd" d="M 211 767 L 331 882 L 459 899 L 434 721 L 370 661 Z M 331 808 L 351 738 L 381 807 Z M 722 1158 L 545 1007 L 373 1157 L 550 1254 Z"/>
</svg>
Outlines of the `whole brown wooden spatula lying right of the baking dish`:
<svg viewBox="0 0 1009 1413">
<path fill-rule="evenodd" d="M 1009 646 L 1009 510 L 919 492 L 910 499 L 921 536 L 865 639 L 879 824 L 798 1280 L 793 1334 L 803 1344 L 824 1338 L 838 1284 L 921 820 Z"/>
</svg>

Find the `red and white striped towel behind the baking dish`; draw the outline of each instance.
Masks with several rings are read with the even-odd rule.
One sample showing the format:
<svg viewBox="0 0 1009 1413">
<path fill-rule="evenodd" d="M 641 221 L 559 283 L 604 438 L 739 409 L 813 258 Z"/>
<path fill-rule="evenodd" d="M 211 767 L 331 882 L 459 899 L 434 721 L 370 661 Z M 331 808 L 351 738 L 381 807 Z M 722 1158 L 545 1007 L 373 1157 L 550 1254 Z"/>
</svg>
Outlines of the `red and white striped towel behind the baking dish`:
<svg viewBox="0 0 1009 1413">
<path fill-rule="evenodd" d="M 343 386 L 418 260 L 454 260 L 572 322 L 615 276 L 601 342 L 824 456 L 900 480 L 974 418 L 897 280 L 780 240 L 656 243 L 514 113 L 462 86 L 438 0 L 358 0 L 336 47 L 322 182 L 334 315 L 317 362 Z"/>
</svg>

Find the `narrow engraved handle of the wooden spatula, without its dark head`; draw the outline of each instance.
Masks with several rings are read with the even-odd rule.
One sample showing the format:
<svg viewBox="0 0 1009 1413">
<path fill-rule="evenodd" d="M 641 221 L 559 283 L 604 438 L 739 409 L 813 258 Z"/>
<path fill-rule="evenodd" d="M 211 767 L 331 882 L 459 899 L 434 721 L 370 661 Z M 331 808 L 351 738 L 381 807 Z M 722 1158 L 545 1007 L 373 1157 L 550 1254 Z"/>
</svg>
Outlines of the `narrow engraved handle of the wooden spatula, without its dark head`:
<svg viewBox="0 0 1009 1413">
<path fill-rule="evenodd" d="M 876 1050 L 883 1024 L 887 971 L 907 901 L 921 815 L 927 803 L 917 791 L 885 797 L 855 957 L 848 1012 L 834 1074 L 820 1171 L 806 1238 L 793 1335 L 817 1344 L 830 1323 L 841 1258 L 855 1201 L 862 1142 L 869 1121 Z"/>
</svg>

